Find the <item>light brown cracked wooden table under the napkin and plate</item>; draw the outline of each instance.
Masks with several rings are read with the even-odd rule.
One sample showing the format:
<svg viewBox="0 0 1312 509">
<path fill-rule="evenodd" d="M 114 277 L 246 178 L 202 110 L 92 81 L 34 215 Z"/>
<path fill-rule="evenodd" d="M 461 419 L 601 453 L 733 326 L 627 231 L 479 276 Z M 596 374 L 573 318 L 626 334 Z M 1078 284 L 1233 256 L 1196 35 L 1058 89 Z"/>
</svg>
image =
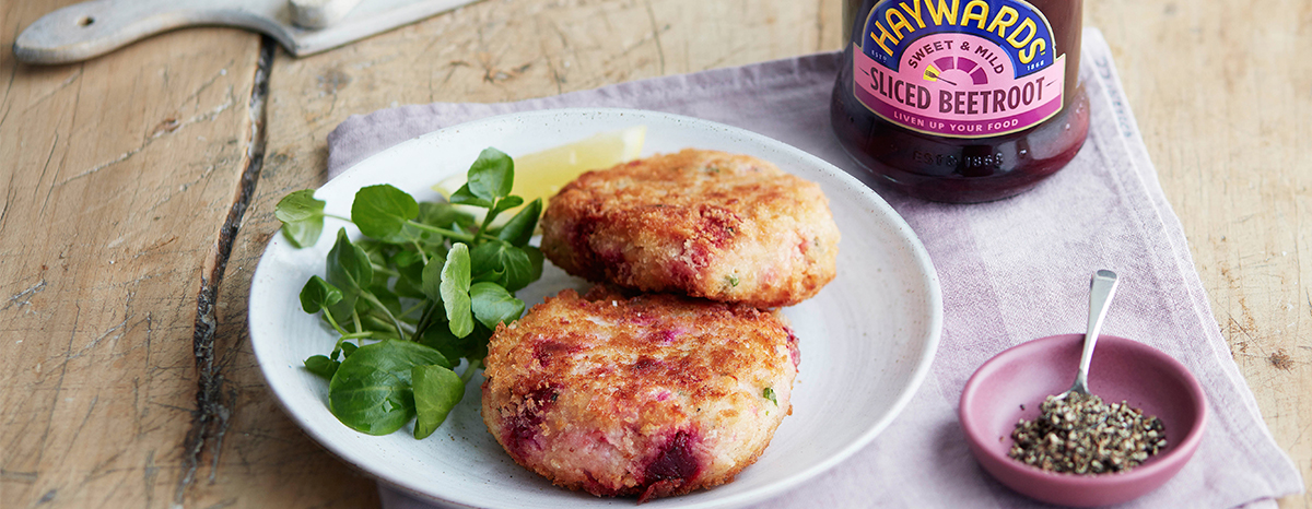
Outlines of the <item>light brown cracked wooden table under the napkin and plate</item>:
<svg viewBox="0 0 1312 509">
<path fill-rule="evenodd" d="M 0 42 L 70 0 L 0 7 Z M 350 114 L 508 101 L 841 46 L 838 0 L 488 0 L 293 59 L 192 29 L 0 51 L 0 506 L 375 506 L 256 369 L 273 203 Z M 1218 327 L 1312 480 L 1312 3 L 1099 0 Z M 1312 495 L 1283 506 L 1312 506 Z"/>
</svg>

